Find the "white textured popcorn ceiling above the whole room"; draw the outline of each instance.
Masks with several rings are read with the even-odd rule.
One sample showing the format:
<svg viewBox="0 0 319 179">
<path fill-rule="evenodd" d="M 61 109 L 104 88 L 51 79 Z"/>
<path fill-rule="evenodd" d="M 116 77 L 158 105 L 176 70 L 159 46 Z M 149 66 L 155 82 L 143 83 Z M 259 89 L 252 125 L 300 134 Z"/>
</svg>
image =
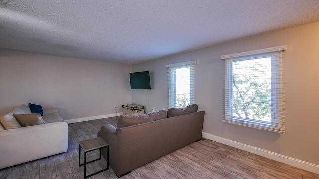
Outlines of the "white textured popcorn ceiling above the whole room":
<svg viewBox="0 0 319 179">
<path fill-rule="evenodd" d="M 0 0 L 0 48 L 138 63 L 319 21 L 319 0 Z"/>
</svg>

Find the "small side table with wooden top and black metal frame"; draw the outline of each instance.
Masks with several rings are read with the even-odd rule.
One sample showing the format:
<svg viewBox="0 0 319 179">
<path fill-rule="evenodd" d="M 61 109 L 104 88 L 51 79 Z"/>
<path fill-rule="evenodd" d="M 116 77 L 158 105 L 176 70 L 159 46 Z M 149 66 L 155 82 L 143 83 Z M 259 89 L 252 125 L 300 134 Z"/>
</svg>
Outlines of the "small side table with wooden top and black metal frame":
<svg viewBox="0 0 319 179">
<path fill-rule="evenodd" d="M 81 164 L 81 148 L 84 151 L 84 163 L 83 164 Z M 108 152 L 107 152 L 107 166 L 108 167 L 105 169 L 102 169 L 98 172 L 95 172 L 93 174 L 86 175 L 86 164 L 100 160 L 101 159 L 101 150 L 103 148 L 108 149 Z M 86 162 L 86 153 L 93 151 L 93 150 L 97 150 L 97 149 L 100 150 L 100 157 L 98 159 Z M 82 165 L 84 165 L 84 178 L 91 177 L 95 174 L 98 174 L 100 172 L 103 172 L 103 171 L 106 171 L 109 169 L 109 144 L 107 142 L 105 142 L 102 137 L 97 137 L 97 138 L 93 138 L 93 139 L 80 141 L 80 143 L 79 143 L 79 166 L 82 166 Z"/>
</svg>

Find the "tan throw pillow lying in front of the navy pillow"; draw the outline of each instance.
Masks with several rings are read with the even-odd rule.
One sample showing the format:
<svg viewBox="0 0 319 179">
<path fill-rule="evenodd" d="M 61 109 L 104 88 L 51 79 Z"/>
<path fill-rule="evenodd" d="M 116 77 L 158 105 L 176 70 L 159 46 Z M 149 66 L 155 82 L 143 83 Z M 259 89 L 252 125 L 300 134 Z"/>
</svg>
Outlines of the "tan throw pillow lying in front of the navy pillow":
<svg viewBox="0 0 319 179">
<path fill-rule="evenodd" d="M 41 114 L 13 114 L 23 127 L 44 124 Z"/>
</svg>

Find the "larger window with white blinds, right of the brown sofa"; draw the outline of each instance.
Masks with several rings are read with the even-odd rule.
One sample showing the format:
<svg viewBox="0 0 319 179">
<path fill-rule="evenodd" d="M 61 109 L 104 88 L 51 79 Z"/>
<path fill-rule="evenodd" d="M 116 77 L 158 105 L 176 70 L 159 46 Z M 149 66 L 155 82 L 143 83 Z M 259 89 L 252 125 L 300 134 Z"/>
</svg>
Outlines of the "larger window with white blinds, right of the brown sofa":
<svg viewBox="0 0 319 179">
<path fill-rule="evenodd" d="M 221 56 L 225 59 L 222 121 L 285 133 L 283 52 L 287 46 Z"/>
</svg>

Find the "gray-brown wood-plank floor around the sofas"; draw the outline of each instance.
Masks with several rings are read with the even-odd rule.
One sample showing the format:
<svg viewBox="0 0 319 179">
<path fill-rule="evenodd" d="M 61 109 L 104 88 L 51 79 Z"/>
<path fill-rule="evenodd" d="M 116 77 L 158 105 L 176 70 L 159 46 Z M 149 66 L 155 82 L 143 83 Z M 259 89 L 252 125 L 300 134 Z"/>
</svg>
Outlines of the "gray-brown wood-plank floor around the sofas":
<svg viewBox="0 0 319 179">
<path fill-rule="evenodd" d="M 67 152 L 2 169 L 0 179 L 83 179 L 84 167 L 78 166 L 79 141 L 96 137 L 100 126 L 105 124 L 116 126 L 117 117 L 69 124 Z M 98 151 L 90 152 L 87 157 L 88 160 L 98 158 Z M 102 157 L 88 165 L 87 175 L 105 167 L 106 160 Z M 88 179 L 117 179 L 117 176 L 110 168 Z M 202 139 L 121 179 L 319 179 L 319 175 Z"/>
</svg>

